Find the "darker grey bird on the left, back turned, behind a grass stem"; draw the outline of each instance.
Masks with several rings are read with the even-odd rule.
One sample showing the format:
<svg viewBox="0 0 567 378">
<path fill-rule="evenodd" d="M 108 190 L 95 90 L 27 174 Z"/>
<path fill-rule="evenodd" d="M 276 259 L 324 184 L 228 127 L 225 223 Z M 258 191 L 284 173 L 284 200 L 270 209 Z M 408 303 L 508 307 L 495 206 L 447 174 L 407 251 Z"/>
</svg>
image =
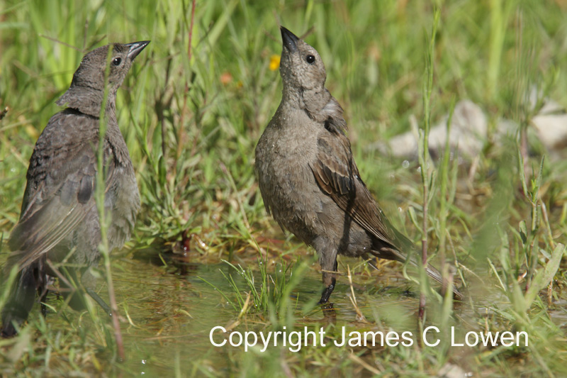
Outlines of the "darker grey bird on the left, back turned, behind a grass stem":
<svg viewBox="0 0 567 378">
<path fill-rule="evenodd" d="M 87 269 L 96 266 L 100 257 L 101 224 L 94 194 L 102 109 L 104 209 L 111 218 L 108 246 L 121 247 L 130 238 L 140 194 L 116 120 L 116 92 L 148 43 L 114 43 L 87 53 L 71 86 L 57 101 L 60 106 L 67 104 L 67 109 L 50 118 L 35 143 L 21 216 L 10 235 L 11 255 L 4 266 L 4 277 L 14 265 L 19 271 L 1 311 L 3 337 L 14 335 L 16 326 L 27 320 L 36 292 L 45 299 L 51 277 L 77 282 L 80 272 L 86 291 L 94 294 L 94 278 Z M 55 268 L 64 260 L 71 266 Z M 79 307 L 75 301 L 71 304 Z"/>
</svg>

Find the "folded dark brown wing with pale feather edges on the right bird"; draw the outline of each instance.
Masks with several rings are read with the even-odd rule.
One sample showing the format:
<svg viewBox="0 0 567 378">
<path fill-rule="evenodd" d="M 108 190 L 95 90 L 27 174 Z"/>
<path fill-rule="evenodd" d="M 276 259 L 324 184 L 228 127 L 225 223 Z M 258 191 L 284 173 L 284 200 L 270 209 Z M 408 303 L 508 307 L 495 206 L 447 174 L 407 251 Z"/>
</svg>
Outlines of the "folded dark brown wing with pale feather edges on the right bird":
<svg viewBox="0 0 567 378">
<path fill-rule="evenodd" d="M 360 178 L 349 139 L 333 126 L 332 120 L 325 123 L 325 129 L 318 138 L 318 159 L 311 167 L 320 188 L 362 228 L 386 245 L 400 248 L 395 243 L 398 232 L 390 226 Z"/>
</svg>

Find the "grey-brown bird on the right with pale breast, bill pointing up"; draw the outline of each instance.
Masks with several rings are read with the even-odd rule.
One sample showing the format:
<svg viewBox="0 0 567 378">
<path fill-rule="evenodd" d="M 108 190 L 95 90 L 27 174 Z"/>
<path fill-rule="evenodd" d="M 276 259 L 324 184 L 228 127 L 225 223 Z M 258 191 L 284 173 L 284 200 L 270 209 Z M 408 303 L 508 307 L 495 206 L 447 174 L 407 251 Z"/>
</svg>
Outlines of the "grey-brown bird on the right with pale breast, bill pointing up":
<svg viewBox="0 0 567 378">
<path fill-rule="evenodd" d="M 335 289 L 338 254 L 405 262 L 401 251 L 412 243 L 388 222 L 360 177 L 318 52 L 283 27 L 281 38 L 283 94 L 258 141 L 255 169 L 266 211 L 317 251 L 325 304 Z M 437 269 L 426 270 L 442 282 Z"/>
</svg>

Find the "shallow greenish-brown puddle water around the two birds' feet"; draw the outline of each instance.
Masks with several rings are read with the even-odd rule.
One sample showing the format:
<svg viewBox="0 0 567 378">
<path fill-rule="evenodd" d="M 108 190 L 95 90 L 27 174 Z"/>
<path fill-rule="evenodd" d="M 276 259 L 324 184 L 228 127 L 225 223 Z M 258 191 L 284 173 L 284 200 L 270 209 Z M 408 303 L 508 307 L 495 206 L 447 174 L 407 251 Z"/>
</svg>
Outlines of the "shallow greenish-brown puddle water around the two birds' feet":
<svg viewBox="0 0 567 378">
<path fill-rule="evenodd" d="M 215 285 L 232 299 L 232 288 L 221 271 L 227 276 L 231 274 L 241 291 L 246 291 L 242 277 L 225 263 L 202 265 L 175 262 L 164 268 L 155 255 L 150 256 L 150 259 L 125 261 L 122 264 L 123 272 L 115 275 L 120 309 L 125 304 L 128 315 L 135 324 L 127 327 L 123 325 L 128 356 L 125 367 L 134 374 L 151 376 L 171 374 L 175 364 L 178 364 L 183 372 L 196 369 L 193 364 L 198 364 L 200 369 L 210 366 L 211 371 L 215 372 L 230 371 L 230 366 L 234 365 L 231 359 L 235 359 L 238 348 L 214 347 L 210 343 L 209 333 L 215 326 L 227 327 L 236 320 L 238 313 L 218 291 L 202 279 Z M 167 263 L 171 264 L 172 260 L 167 260 Z M 257 264 L 255 261 L 251 263 Z M 376 277 L 356 278 L 355 293 L 359 297 L 363 312 L 370 313 L 366 302 L 368 299 L 376 299 L 373 305 L 378 308 L 378 313 L 381 312 L 381 307 L 391 307 L 395 302 L 399 305 L 396 306 L 398 316 L 405 313 L 405 316 L 400 318 L 412 318 L 417 299 L 411 296 L 402 296 L 401 299 L 399 297 L 400 291 L 403 291 L 400 287 L 408 287 L 405 280 L 397 282 L 400 287 L 377 288 Z M 308 326 L 315 329 L 320 326 L 327 327 L 330 323 L 340 325 L 356 322 L 357 313 L 349 300 L 351 294 L 347 277 L 340 277 L 332 294 L 334 311 L 324 312 L 315 306 L 321 285 L 320 274 L 315 269 L 308 269 L 301 283 L 293 289 L 296 328 L 303 329 L 303 326 Z M 371 287 L 368 292 L 366 285 Z M 392 296 L 391 301 L 383 300 L 389 296 Z M 308 311 L 310 308 L 313 310 Z M 235 330 L 262 330 L 267 322 L 261 315 L 252 313 Z M 403 326 L 404 322 L 397 323 L 398 326 Z M 222 336 L 216 336 L 215 339 L 217 338 Z"/>
</svg>

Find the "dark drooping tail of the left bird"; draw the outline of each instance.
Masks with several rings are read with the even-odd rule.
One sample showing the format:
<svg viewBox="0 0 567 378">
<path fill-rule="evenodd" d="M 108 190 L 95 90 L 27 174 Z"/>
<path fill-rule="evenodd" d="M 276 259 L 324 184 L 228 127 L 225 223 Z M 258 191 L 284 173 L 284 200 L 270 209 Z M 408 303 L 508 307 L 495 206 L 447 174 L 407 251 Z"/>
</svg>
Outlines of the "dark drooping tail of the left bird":
<svg viewBox="0 0 567 378">
<path fill-rule="evenodd" d="M 9 272 L 9 265 L 6 266 L 4 272 Z M 4 277 L 7 277 L 7 275 L 4 274 Z M 1 311 L 1 337 L 9 338 L 16 335 L 15 325 L 20 326 L 28 319 L 28 314 L 35 301 L 35 292 L 43 291 L 45 285 L 45 265 L 42 259 L 18 272 L 18 277 L 11 287 L 8 301 Z"/>
</svg>

